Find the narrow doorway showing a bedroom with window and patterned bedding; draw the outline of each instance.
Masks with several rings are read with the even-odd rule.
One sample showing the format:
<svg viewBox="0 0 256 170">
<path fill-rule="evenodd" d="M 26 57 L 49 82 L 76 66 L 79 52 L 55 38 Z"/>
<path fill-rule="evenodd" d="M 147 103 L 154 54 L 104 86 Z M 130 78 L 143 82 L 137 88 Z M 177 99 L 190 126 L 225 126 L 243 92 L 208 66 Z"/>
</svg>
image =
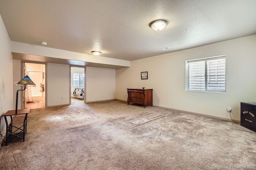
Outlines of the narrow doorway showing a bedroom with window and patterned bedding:
<svg viewBox="0 0 256 170">
<path fill-rule="evenodd" d="M 86 101 L 86 90 L 85 90 L 85 67 L 70 66 L 70 101 L 81 100 Z"/>
</svg>

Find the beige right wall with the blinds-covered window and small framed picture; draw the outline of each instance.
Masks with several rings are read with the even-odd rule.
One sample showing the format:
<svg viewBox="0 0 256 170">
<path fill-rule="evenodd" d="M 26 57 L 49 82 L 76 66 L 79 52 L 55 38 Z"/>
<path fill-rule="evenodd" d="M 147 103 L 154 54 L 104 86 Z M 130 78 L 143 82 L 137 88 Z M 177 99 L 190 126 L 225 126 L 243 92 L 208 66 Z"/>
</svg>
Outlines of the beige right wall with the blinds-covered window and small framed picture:
<svg viewBox="0 0 256 170">
<path fill-rule="evenodd" d="M 240 120 L 240 102 L 256 102 L 256 35 L 131 62 L 116 69 L 116 98 L 127 100 L 126 88 L 153 88 L 153 105 Z M 226 93 L 185 91 L 185 61 L 227 55 Z M 148 71 L 148 80 L 140 72 Z"/>
</svg>

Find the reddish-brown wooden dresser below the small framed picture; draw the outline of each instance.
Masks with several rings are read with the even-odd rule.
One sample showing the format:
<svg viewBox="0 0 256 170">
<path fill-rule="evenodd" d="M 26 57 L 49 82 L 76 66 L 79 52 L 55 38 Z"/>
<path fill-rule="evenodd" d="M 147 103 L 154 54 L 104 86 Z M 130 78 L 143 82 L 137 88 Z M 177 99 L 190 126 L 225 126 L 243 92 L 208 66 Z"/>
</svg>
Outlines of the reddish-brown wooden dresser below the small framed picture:
<svg viewBox="0 0 256 170">
<path fill-rule="evenodd" d="M 146 105 L 152 105 L 152 91 L 153 89 L 139 89 L 139 88 L 128 88 L 127 93 L 127 102 L 136 103 L 136 104 L 143 104 L 144 108 Z"/>
</svg>

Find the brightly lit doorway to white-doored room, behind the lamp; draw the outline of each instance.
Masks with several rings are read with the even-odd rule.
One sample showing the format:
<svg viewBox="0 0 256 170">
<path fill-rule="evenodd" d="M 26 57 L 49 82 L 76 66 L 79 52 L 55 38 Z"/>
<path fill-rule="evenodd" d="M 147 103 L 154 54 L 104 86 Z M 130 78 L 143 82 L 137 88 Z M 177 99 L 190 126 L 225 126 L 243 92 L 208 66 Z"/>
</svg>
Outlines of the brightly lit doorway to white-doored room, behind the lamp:
<svg viewBox="0 0 256 170">
<path fill-rule="evenodd" d="M 36 87 L 24 91 L 24 108 L 39 109 L 46 107 L 46 70 L 45 64 L 24 63 L 24 76 L 28 75 Z"/>
</svg>

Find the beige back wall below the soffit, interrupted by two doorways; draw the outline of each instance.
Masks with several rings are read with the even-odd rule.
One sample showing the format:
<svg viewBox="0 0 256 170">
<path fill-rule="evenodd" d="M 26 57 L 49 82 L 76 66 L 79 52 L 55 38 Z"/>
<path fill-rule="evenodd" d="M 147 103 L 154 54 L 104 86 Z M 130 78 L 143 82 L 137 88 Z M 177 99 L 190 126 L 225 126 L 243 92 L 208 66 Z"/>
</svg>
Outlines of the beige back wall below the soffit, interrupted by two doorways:
<svg viewBox="0 0 256 170">
<path fill-rule="evenodd" d="M 21 61 L 13 60 L 13 81 L 19 81 L 21 75 Z M 88 72 L 87 72 L 88 71 Z M 115 69 L 86 67 L 86 102 L 102 101 L 115 99 Z M 69 65 L 47 63 L 47 103 L 46 107 L 62 106 L 69 104 L 70 83 Z M 13 86 L 14 96 L 20 86 Z M 107 95 L 107 97 L 106 97 Z M 64 97 L 64 100 L 62 100 Z M 15 108 L 15 100 L 13 106 Z M 20 93 L 18 109 L 21 108 Z"/>
</svg>

